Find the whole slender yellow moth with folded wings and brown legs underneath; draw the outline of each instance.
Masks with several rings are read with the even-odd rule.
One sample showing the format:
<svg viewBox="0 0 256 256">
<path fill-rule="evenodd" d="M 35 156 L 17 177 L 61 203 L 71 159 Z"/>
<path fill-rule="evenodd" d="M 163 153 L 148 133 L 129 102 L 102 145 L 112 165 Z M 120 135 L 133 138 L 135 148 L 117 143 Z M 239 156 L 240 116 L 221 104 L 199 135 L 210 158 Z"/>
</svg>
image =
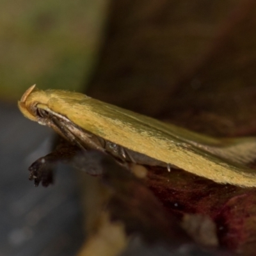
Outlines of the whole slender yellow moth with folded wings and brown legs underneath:
<svg viewBox="0 0 256 256">
<path fill-rule="evenodd" d="M 18 102 L 24 116 L 88 150 L 150 166 L 171 166 L 222 184 L 256 187 L 256 138 L 212 138 L 66 90 L 31 86 Z"/>
</svg>

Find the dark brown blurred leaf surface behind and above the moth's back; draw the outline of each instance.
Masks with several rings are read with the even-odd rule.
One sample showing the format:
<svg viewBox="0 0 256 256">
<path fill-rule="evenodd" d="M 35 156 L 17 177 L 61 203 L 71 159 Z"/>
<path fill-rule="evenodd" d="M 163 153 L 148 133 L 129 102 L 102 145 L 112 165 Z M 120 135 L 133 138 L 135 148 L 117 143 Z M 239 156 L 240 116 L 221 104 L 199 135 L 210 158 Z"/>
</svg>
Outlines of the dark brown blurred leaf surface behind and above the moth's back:
<svg viewBox="0 0 256 256">
<path fill-rule="evenodd" d="M 111 10 L 88 94 L 212 135 L 255 127 L 255 1 L 124 0 Z"/>
</svg>

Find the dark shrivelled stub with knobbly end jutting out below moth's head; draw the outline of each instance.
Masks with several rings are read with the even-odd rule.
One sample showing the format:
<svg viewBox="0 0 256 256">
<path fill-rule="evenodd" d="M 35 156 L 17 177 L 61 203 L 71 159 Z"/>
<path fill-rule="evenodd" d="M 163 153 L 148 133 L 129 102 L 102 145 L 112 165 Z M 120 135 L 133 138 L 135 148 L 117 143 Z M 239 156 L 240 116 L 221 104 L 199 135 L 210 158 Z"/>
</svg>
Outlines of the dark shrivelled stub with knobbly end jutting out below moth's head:
<svg viewBox="0 0 256 256">
<path fill-rule="evenodd" d="M 37 159 L 29 167 L 29 180 L 34 180 L 35 186 L 42 182 L 42 186 L 47 187 L 49 184 L 54 183 L 54 170 L 58 163 L 68 163 L 77 152 L 81 151 L 80 148 L 70 145 L 68 141 L 61 138 L 58 146 L 44 157 Z"/>
</svg>

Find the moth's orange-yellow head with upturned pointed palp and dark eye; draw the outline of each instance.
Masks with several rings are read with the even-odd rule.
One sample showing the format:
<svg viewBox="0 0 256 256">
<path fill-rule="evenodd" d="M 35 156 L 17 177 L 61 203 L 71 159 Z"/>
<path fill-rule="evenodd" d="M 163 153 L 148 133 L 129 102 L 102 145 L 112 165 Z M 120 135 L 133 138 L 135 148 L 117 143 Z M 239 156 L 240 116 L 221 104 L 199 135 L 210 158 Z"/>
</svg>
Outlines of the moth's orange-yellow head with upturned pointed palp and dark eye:
<svg viewBox="0 0 256 256">
<path fill-rule="evenodd" d="M 36 85 L 29 87 L 18 101 L 20 111 L 24 116 L 42 125 L 49 122 L 49 111 L 47 94 L 36 88 Z"/>
</svg>

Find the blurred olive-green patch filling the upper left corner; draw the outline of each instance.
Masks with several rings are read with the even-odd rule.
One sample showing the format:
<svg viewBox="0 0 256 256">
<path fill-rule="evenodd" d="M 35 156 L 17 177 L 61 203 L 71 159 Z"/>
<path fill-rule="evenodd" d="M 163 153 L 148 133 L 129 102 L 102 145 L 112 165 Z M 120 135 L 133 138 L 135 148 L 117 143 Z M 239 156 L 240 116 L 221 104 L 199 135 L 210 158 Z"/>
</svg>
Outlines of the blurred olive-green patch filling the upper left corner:
<svg viewBox="0 0 256 256">
<path fill-rule="evenodd" d="M 17 100 L 35 83 L 78 90 L 95 62 L 107 3 L 1 1 L 0 99 Z"/>
</svg>

